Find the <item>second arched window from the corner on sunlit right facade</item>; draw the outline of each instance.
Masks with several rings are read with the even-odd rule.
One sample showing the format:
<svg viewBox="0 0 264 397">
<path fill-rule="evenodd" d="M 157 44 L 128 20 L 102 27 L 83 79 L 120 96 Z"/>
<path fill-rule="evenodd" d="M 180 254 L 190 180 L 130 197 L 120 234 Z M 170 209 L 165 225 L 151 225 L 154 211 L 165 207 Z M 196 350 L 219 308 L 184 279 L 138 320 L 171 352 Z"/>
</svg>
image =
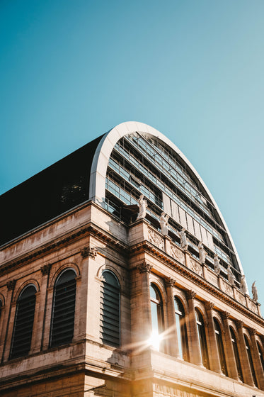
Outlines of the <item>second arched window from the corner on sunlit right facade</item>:
<svg viewBox="0 0 264 397">
<path fill-rule="evenodd" d="M 182 357 L 182 359 L 184 359 L 185 361 L 189 361 L 185 313 L 183 309 L 183 304 L 180 302 L 180 299 L 176 298 L 176 296 L 174 297 L 174 308 L 180 357 Z"/>
</svg>

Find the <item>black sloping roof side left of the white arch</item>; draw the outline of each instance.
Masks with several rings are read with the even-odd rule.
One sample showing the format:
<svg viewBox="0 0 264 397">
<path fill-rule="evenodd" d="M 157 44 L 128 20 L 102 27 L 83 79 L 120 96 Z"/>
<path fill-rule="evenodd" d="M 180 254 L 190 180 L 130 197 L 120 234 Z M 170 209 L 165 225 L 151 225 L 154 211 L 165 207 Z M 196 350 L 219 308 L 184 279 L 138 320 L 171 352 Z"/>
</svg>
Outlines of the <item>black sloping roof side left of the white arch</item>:
<svg viewBox="0 0 264 397">
<path fill-rule="evenodd" d="M 88 200 L 91 164 L 102 136 L 0 196 L 0 245 Z"/>
</svg>

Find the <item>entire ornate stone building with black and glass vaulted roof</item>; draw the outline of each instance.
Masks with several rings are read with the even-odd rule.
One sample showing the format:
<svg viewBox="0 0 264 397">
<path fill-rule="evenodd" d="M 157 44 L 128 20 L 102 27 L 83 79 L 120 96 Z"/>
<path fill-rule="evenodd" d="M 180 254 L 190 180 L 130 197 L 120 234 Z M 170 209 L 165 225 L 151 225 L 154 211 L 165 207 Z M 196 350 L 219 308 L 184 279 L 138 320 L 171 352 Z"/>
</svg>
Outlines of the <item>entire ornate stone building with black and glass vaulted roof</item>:
<svg viewBox="0 0 264 397">
<path fill-rule="evenodd" d="M 117 125 L 0 203 L 1 396 L 264 396 L 256 290 L 159 131 Z"/>
</svg>

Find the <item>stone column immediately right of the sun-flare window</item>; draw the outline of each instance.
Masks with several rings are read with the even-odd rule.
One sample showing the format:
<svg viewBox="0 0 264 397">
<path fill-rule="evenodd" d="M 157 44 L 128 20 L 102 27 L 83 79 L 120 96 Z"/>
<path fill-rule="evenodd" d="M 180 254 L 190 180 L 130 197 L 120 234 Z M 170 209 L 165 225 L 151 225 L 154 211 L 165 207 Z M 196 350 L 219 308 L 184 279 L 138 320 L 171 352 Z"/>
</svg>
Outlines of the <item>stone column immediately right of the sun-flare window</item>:
<svg viewBox="0 0 264 397">
<path fill-rule="evenodd" d="M 168 334 L 168 352 L 170 352 L 173 357 L 180 357 L 173 296 L 175 280 L 166 279 L 165 284 L 167 292 L 168 329 L 170 330 Z"/>
</svg>

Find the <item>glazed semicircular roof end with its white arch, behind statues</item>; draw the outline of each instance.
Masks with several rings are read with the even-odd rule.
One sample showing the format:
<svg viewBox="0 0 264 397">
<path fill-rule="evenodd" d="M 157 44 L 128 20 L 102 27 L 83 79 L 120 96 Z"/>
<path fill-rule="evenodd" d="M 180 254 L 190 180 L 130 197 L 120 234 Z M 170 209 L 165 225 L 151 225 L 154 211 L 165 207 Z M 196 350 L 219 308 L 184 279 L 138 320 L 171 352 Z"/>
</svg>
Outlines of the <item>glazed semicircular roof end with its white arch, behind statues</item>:
<svg viewBox="0 0 264 397">
<path fill-rule="evenodd" d="M 133 220 L 139 196 L 147 199 L 147 219 L 159 228 L 162 212 L 169 216 L 169 234 L 177 243 L 185 228 L 189 250 L 199 257 L 198 244 L 214 269 L 227 267 L 239 286 L 243 269 L 224 218 L 192 164 L 166 136 L 149 125 L 127 122 L 106 133 L 93 159 L 90 198 L 124 221 Z M 135 219 L 135 217 L 134 217 Z"/>
</svg>

